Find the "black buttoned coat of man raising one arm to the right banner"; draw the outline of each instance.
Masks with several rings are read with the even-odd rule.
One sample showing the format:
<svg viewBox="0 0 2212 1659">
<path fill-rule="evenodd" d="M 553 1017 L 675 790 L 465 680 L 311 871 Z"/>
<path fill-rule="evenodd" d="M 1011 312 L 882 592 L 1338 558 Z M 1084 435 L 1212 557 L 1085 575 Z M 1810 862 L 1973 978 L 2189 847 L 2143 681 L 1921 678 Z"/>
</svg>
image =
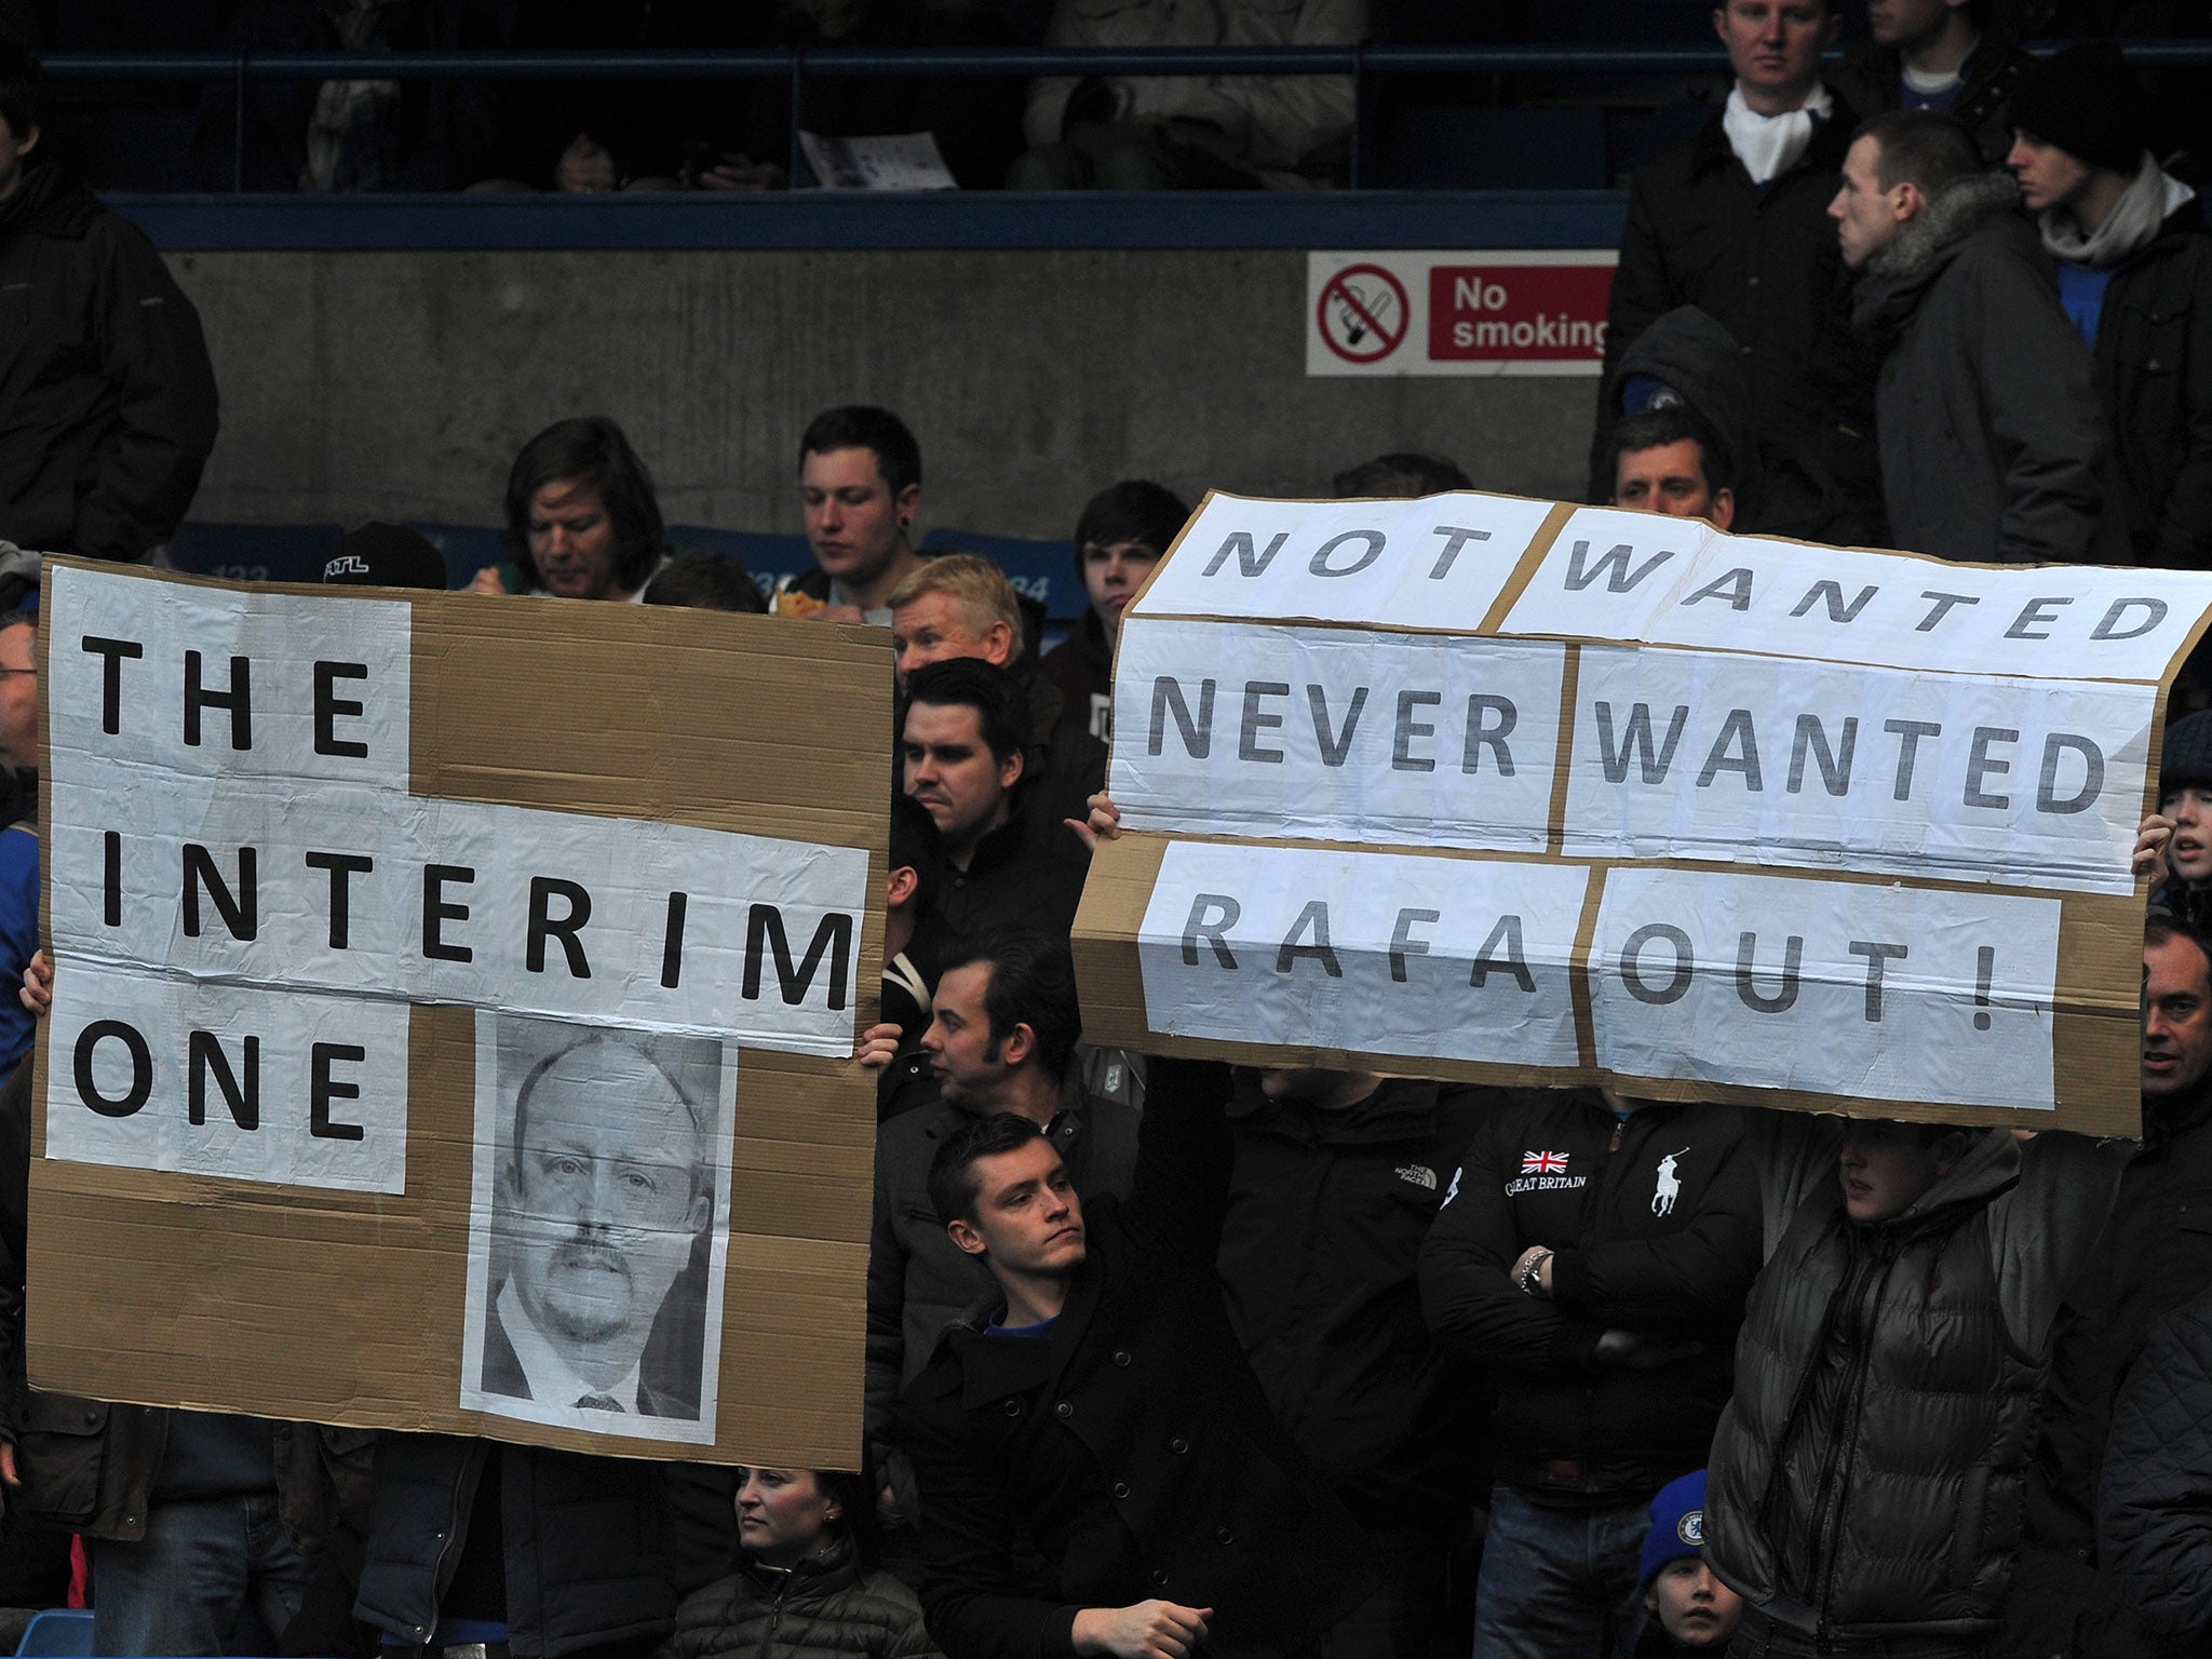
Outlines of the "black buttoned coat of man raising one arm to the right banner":
<svg viewBox="0 0 2212 1659">
<path fill-rule="evenodd" d="M 900 1400 L 922 1606 L 960 1659 L 1060 1659 L 1082 1608 L 1150 1597 L 1214 1608 L 1214 1659 L 1281 1659 L 1374 1588 L 1221 1307 L 1228 1073 L 1148 1066 L 1137 1181 L 1084 1206 L 1053 1336 L 991 1336 L 978 1312 Z M 1020 1566 L 1022 1535 L 1042 1575 Z"/>
</svg>

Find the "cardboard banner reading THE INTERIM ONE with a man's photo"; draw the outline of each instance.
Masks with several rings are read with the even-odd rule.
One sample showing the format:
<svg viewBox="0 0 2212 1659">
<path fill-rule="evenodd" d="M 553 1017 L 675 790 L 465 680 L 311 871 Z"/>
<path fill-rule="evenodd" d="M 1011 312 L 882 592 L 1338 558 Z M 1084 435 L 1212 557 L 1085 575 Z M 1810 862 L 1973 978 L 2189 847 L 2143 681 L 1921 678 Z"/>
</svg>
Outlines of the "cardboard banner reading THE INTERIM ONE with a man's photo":
<svg viewBox="0 0 2212 1659">
<path fill-rule="evenodd" d="M 880 630 L 53 560 L 38 1389 L 854 1467 Z"/>
</svg>

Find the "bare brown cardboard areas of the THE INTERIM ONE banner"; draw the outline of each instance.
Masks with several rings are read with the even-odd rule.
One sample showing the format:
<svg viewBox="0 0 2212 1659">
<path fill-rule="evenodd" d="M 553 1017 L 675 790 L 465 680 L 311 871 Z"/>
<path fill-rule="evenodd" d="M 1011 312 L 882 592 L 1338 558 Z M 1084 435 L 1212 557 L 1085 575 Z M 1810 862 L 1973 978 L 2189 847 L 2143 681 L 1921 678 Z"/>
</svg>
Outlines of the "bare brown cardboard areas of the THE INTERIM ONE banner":
<svg viewBox="0 0 2212 1659">
<path fill-rule="evenodd" d="M 49 564 L 49 591 L 60 564 L 71 562 Z M 332 606 L 411 602 L 414 794 L 865 849 L 852 1029 L 876 1018 L 891 721 L 883 630 L 666 606 L 272 591 Z M 73 648 L 44 630 L 40 644 L 49 661 Z M 44 721 L 51 730 L 51 710 Z M 71 962 L 55 971 L 66 980 Z M 46 1048 L 42 1037 L 38 1102 L 58 1064 Z M 40 1113 L 31 1383 L 622 1455 L 854 1467 L 872 1077 L 849 1060 L 761 1048 L 739 1060 L 719 1413 L 712 1447 L 690 1447 L 456 1405 L 473 1073 L 473 1011 L 418 1004 L 398 1197 L 58 1161 L 44 1157 Z"/>
</svg>

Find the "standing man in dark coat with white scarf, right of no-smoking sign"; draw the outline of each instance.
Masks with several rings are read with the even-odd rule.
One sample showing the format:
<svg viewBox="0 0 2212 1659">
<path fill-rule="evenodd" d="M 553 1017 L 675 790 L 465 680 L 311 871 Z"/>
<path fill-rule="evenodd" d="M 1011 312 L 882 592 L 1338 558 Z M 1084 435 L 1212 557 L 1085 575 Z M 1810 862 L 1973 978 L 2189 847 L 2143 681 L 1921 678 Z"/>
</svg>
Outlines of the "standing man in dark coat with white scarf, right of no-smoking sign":
<svg viewBox="0 0 2212 1659">
<path fill-rule="evenodd" d="M 1588 500 L 1613 500 L 1613 427 L 1648 400 L 1628 354 L 1666 312 L 1697 305 L 1743 358 L 1747 429 L 1763 447 L 1816 456 L 1840 480 L 1834 540 L 1847 540 L 1878 515 L 1880 484 L 1874 358 L 1851 332 L 1849 283 L 1825 219 L 1858 124 L 1851 104 L 1820 84 L 1836 7 L 1728 0 L 1714 18 L 1736 73 L 1728 106 L 1639 168 L 1628 192 Z M 1730 411 L 1701 414 L 1736 442 Z M 1750 471 L 1754 456 L 1739 449 L 1736 460 Z"/>
</svg>

